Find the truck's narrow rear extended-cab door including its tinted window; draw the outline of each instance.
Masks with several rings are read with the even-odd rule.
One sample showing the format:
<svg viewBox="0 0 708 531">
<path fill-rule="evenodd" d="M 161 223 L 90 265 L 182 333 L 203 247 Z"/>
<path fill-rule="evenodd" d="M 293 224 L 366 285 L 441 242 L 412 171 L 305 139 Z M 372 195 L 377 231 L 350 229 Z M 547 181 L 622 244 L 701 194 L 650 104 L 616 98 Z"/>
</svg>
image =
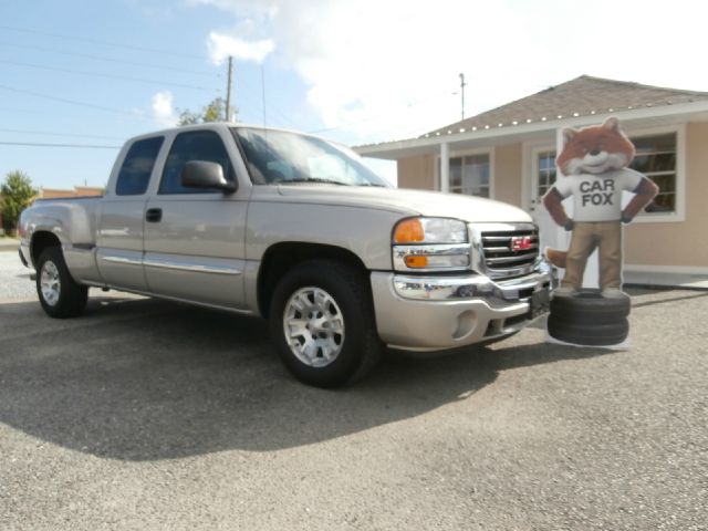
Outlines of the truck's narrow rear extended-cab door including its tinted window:
<svg viewBox="0 0 708 531">
<path fill-rule="evenodd" d="M 147 291 L 143 269 L 143 236 L 147 191 L 164 136 L 135 140 L 128 148 L 112 189 L 101 200 L 96 261 L 103 281 L 115 288 Z M 155 171 L 156 173 L 156 171 Z"/>
</svg>

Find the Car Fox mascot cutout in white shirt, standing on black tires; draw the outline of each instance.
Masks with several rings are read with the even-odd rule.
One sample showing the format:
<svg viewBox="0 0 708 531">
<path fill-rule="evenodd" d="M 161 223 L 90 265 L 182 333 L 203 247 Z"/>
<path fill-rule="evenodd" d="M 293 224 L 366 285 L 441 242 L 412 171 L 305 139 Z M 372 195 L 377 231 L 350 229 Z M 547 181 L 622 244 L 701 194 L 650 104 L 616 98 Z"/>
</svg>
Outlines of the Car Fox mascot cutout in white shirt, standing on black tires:
<svg viewBox="0 0 708 531">
<path fill-rule="evenodd" d="M 632 222 L 658 187 L 628 168 L 634 145 L 615 117 L 598 126 L 564 129 L 563 140 L 556 166 L 564 177 L 546 192 L 543 205 L 553 220 L 572 233 L 568 251 L 546 249 L 548 260 L 565 269 L 551 306 L 549 333 L 569 343 L 618 344 L 627 336 L 629 312 L 628 298 L 622 291 L 622 225 Z M 625 191 L 633 197 L 623 208 Z M 562 205 L 566 198 L 573 201 L 572 218 Z M 595 249 L 598 290 L 583 291 L 585 266 Z"/>
</svg>

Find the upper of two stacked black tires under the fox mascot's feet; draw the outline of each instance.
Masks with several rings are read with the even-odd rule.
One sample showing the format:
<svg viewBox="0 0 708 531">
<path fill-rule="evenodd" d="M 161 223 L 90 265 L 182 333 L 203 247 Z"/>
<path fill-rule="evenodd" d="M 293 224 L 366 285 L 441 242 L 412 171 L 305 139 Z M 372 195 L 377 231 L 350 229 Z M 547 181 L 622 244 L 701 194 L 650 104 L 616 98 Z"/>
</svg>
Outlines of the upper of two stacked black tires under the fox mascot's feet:
<svg viewBox="0 0 708 531">
<path fill-rule="evenodd" d="M 600 293 L 581 292 L 573 296 L 554 296 L 551 314 L 577 324 L 613 324 L 629 315 L 628 296 L 605 299 Z"/>
</svg>

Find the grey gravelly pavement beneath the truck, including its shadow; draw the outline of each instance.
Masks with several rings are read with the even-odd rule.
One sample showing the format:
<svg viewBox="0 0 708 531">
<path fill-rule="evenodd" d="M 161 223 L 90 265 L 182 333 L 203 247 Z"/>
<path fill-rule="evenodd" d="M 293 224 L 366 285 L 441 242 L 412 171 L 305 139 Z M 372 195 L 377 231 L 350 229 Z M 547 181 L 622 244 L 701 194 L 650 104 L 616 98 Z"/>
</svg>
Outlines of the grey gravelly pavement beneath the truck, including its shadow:
<svg viewBox="0 0 708 531">
<path fill-rule="evenodd" d="M 527 329 L 325 392 L 260 321 L 119 295 L 50 320 L 6 258 L 3 531 L 708 529 L 708 292 L 635 291 L 627 351 Z"/>
</svg>

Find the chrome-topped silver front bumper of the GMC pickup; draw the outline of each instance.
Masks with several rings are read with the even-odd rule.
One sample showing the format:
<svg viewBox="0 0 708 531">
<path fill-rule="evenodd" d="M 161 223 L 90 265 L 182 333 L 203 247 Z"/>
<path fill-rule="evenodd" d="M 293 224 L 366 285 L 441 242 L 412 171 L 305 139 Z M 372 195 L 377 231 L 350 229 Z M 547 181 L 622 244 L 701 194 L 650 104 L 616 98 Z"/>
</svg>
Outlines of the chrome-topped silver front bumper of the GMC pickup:
<svg viewBox="0 0 708 531">
<path fill-rule="evenodd" d="M 376 325 L 389 346 L 438 351 L 510 335 L 548 312 L 552 279 L 544 263 L 522 278 L 372 273 Z"/>
</svg>

